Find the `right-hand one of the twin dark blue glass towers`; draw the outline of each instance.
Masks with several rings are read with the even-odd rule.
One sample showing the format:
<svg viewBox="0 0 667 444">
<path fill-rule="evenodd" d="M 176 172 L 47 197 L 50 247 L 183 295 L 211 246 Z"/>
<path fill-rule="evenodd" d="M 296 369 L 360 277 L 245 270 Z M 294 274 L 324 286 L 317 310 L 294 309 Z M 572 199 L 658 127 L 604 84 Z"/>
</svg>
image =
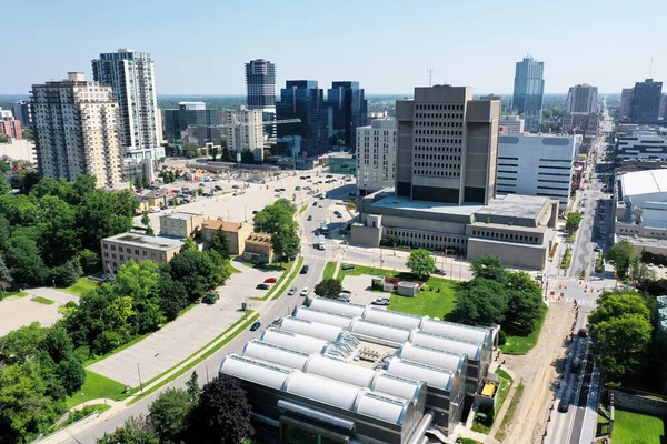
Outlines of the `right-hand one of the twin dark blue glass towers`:
<svg viewBox="0 0 667 444">
<path fill-rule="evenodd" d="M 347 147 L 352 151 L 357 143 L 357 128 L 366 124 L 368 102 L 359 82 L 332 82 L 327 91 L 329 103 L 329 145 Z"/>
</svg>

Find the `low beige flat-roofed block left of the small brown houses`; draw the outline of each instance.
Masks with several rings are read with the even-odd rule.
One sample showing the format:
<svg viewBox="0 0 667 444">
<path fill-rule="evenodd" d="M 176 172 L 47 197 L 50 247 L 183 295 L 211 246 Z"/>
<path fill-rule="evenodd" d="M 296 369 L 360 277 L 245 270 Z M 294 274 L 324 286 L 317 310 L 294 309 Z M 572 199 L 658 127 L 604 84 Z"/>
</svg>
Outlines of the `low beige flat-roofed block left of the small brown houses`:
<svg viewBox="0 0 667 444">
<path fill-rule="evenodd" d="M 142 233 L 120 233 L 101 241 L 104 272 L 116 273 L 130 259 L 135 262 L 151 260 L 167 263 L 180 252 L 183 242 L 176 238 Z"/>
</svg>

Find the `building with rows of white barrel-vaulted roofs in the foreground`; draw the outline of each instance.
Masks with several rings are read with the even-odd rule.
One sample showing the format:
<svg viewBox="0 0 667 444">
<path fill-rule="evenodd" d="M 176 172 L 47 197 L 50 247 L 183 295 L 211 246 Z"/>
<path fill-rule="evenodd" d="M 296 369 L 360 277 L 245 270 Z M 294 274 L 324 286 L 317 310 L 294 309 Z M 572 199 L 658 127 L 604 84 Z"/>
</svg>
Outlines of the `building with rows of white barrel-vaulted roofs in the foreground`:
<svg viewBox="0 0 667 444">
<path fill-rule="evenodd" d="M 316 297 L 220 371 L 240 380 L 268 443 L 421 443 L 427 428 L 449 434 L 461 421 L 475 397 L 466 393 L 468 363 L 486 377 L 489 344 L 491 329 Z"/>
</svg>

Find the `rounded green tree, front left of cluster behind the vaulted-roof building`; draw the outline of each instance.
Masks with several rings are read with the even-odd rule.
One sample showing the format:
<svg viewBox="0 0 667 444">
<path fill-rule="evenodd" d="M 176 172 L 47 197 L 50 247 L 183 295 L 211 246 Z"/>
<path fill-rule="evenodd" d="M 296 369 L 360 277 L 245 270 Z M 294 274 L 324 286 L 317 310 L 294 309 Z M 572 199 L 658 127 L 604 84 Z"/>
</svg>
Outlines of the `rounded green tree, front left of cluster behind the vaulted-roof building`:
<svg viewBox="0 0 667 444">
<path fill-rule="evenodd" d="M 470 324 L 498 324 L 505 321 L 508 295 L 505 286 L 486 278 L 460 284 L 456 296 L 455 315 Z"/>
</svg>

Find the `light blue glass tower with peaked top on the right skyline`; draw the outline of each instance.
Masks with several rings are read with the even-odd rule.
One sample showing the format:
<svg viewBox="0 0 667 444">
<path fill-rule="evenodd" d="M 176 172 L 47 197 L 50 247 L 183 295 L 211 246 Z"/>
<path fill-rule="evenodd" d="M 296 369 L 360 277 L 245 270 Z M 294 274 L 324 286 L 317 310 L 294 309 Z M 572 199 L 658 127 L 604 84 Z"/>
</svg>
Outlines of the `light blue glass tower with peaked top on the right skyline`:
<svg viewBox="0 0 667 444">
<path fill-rule="evenodd" d="M 545 63 L 532 57 L 517 62 L 511 107 L 526 120 L 526 130 L 538 132 L 542 120 Z"/>
</svg>

